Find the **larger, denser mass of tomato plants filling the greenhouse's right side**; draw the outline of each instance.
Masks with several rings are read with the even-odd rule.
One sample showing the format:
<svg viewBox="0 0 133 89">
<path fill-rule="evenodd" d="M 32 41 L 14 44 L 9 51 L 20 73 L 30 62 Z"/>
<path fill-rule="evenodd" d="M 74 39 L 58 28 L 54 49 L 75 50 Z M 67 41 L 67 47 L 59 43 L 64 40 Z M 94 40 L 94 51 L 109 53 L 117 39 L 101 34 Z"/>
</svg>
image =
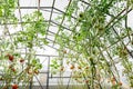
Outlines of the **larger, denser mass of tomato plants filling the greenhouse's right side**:
<svg viewBox="0 0 133 89">
<path fill-rule="evenodd" d="M 60 30 L 61 27 L 59 27 L 60 32 L 55 36 L 61 57 L 61 60 L 57 61 L 60 63 L 66 60 L 66 66 L 72 71 L 71 77 L 75 81 L 89 81 L 85 85 L 94 89 L 95 86 L 100 88 L 108 78 L 111 78 L 111 88 L 120 88 L 123 85 L 117 65 L 121 65 L 122 70 L 126 71 L 124 75 L 126 75 L 127 85 L 132 85 L 130 76 L 133 72 L 133 55 L 131 53 L 133 28 L 127 24 L 127 14 L 132 11 L 132 3 L 131 0 L 70 1 L 66 14 L 62 16 L 66 19 L 64 27 L 69 27 L 69 31 L 63 27 L 63 30 Z M 64 49 L 68 51 L 64 52 Z M 55 65 L 53 63 L 52 67 Z M 79 75 L 80 72 L 82 73 Z M 81 78 L 73 77 L 78 75 Z"/>
</svg>

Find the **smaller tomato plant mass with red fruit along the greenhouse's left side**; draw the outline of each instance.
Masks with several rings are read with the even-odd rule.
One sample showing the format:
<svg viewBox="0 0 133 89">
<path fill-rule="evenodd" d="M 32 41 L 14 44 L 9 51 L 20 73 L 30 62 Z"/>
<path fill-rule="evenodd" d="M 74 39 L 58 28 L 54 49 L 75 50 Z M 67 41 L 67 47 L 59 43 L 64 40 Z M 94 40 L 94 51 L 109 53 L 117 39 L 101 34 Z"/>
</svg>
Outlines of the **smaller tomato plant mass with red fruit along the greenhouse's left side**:
<svg viewBox="0 0 133 89">
<path fill-rule="evenodd" d="M 33 47 L 43 48 L 48 44 L 44 38 L 47 22 L 39 10 L 22 16 L 22 30 L 11 33 L 12 28 L 19 27 L 20 18 L 14 14 L 17 7 L 20 7 L 19 0 L 0 1 L 0 23 L 3 24 L 0 37 L 0 89 L 18 89 L 20 83 L 23 89 L 29 86 L 33 76 L 38 76 L 42 68 Z M 11 22 L 16 23 L 16 27 L 10 28 L 8 23 Z M 27 48 L 24 55 L 19 49 L 24 49 L 23 47 Z"/>
</svg>

